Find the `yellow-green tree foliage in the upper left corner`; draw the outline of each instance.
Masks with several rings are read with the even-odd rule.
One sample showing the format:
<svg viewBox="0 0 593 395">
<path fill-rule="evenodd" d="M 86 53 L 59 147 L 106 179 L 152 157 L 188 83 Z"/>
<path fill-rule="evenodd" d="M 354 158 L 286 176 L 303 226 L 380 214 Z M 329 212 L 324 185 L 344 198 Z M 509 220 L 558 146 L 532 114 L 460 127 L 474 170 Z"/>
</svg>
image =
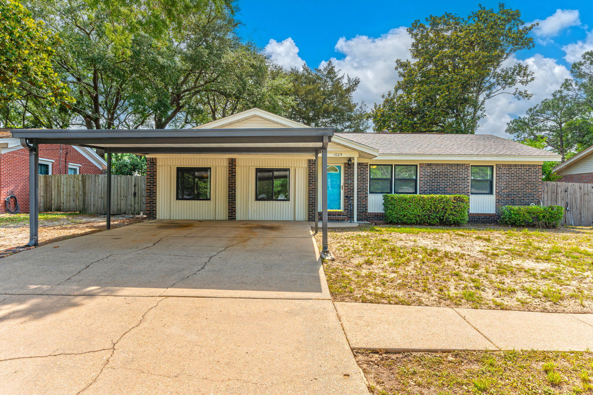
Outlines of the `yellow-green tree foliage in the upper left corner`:
<svg viewBox="0 0 593 395">
<path fill-rule="evenodd" d="M 74 99 L 53 69 L 52 57 L 60 39 L 43 21 L 13 0 L 0 1 L 0 109 L 2 123 L 12 126 L 9 104 L 69 106 Z M 31 104 L 33 105 L 33 104 Z"/>
</svg>

